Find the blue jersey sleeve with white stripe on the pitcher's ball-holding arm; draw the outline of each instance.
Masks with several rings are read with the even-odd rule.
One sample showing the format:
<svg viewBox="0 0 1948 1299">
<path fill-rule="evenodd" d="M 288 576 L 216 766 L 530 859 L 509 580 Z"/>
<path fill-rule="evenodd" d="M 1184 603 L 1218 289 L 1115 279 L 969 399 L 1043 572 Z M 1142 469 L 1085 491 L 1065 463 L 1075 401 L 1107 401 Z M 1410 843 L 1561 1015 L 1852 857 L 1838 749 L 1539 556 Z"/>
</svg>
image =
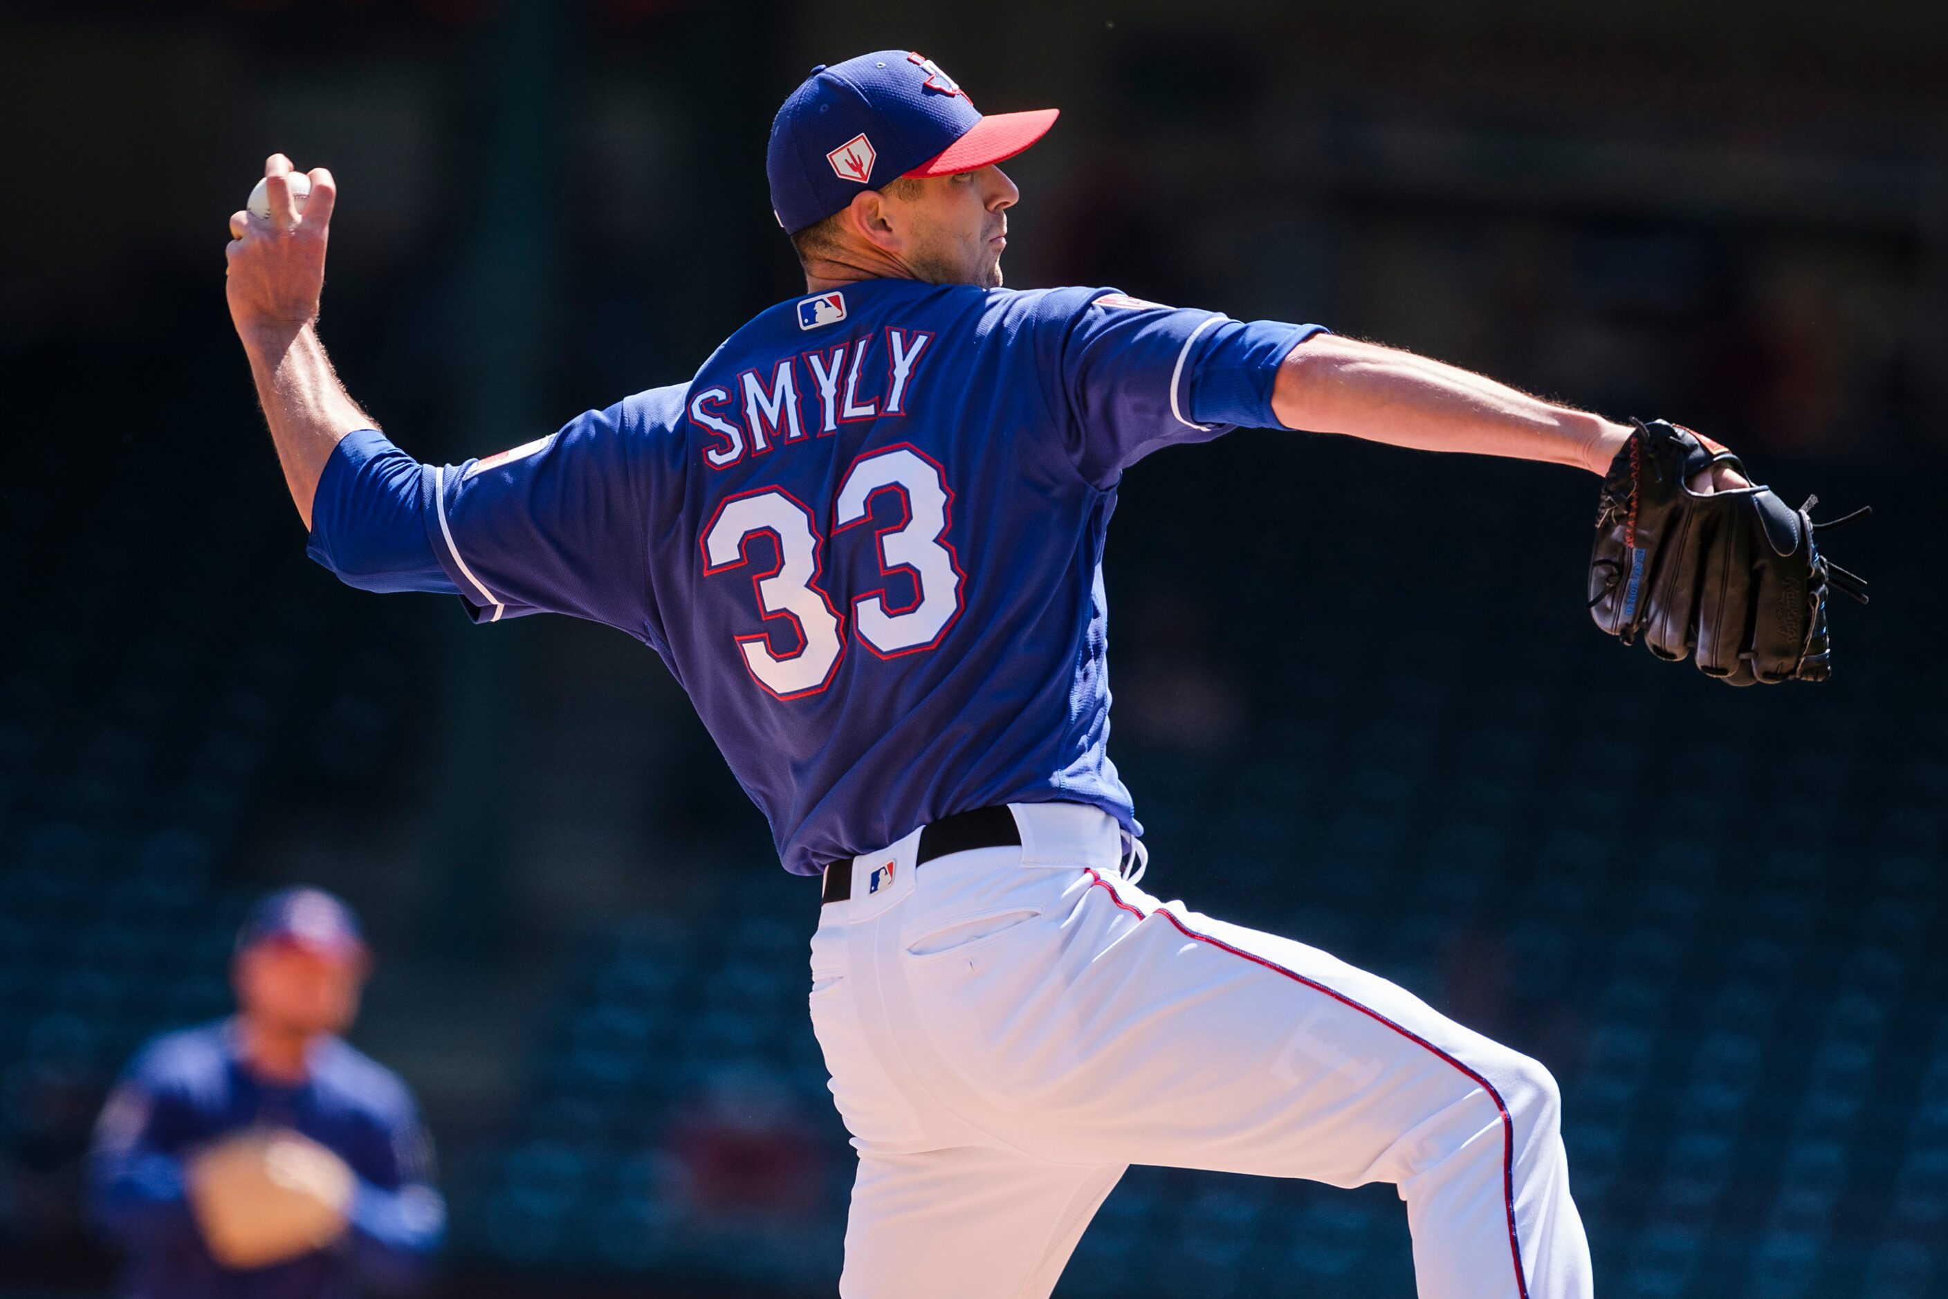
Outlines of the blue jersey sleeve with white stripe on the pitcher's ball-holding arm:
<svg viewBox="0 0 1948 1299">
<path fill-rule="evenodd" d="M 641 393 L 499 456 L 425 467 L 425 530 L 473 621 L 573 613 L 655 643 L 651 479 L 680 393 Z"/>
</svg>

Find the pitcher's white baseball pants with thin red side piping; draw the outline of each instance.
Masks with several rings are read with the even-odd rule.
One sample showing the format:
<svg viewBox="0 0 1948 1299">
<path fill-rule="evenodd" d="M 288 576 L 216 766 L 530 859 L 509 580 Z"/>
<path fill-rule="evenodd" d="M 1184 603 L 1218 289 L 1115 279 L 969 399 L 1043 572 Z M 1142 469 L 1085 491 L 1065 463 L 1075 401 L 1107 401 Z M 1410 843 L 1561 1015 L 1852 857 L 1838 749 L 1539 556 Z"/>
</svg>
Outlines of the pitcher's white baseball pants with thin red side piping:
<svg viewBox="0 0 1948 1299">
<path fill-rule="evenodd" d="M 916 832 L 822 908 L 812 1026 L 859 1151 L 843 1299 L 1046 1297 L 1132 1163 L 1393 1182 L 1422 1299 L 1592 1293 L 1543 1065 L 1159 902 L 1095 808 L 1013 812 L 1021 847 L 916 871 Z"/>
</svg>

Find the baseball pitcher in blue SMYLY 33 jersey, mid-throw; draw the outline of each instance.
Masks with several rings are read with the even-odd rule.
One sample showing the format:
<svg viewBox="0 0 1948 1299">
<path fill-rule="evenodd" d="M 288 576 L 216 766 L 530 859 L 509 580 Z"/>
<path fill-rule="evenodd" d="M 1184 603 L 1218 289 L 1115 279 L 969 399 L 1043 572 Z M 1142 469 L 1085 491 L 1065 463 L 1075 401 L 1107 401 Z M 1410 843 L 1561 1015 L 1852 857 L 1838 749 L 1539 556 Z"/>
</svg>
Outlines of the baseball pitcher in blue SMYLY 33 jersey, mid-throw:
<svg viewBox="0 0 1948 1299">
<path fill-rule="evenodd" d="M 1428 1299 L 1588 1295 L 1541 1063 L 1140 886 L 1108 758 L 1116 487 L 1241 425 L 1607 475 L 1599 625 L 1730 680 L 1825 672 L 1812 526 L 1669 425 L 1319 325 L 1003 288 L 997 164 L 1054 119 L 984 117 L 908 51 L 812 68 L 768 152 L 806 294 L 684 384 L 462 465 L 333 376 L 335 185 L 310 171 L 300 216 L 271 158 L 230 306 L 310 553 L 481 623 L 619 627 L 682 682 L 783 867 L 820 878 L 810 1015 L 859 1151 L 843 1295 L 1048 1295 L 1132 1163 L 1391 1182 Z"/>
</svg>

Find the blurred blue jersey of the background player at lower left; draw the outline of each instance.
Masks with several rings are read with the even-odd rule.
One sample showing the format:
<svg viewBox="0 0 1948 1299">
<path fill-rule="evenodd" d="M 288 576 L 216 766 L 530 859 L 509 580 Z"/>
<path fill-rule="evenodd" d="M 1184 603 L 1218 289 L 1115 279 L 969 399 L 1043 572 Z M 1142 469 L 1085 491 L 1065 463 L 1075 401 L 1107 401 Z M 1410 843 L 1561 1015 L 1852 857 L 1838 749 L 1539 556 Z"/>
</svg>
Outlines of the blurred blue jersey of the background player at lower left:
<svg viewBox="0 0 1948 1299">
<path fill-rule="evenodd" d="M 185 1161 L 244 1128 L 290 1128 L 356 1174 L 337 1244 L 232 1272 L 203 1244 Z M 417 1285 L 446 1229 L 432 1145 L 405 1083 L 337 1038 L 312 1048 L 310 1077 L 259 1081 L 228 1021 L 158 1038 L 109 1095 L 88 1155 L 95 1221 L 129 1252 L 123 1293 L 140 1299 L 339 1299 Z"/>
</svg>

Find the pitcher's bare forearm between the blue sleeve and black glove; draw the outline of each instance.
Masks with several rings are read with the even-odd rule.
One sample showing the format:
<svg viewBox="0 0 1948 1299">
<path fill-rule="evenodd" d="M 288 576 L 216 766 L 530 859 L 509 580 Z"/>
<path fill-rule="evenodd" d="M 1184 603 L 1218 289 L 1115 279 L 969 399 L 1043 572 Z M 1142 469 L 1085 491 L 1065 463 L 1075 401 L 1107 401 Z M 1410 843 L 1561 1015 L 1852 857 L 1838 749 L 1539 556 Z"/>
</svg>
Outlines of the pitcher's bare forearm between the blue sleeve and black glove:
<svg viewBox="0 0 1948 1299">
<path fill-rule="evenodd" d="M 1603 473 L 1630 428 L 1375 343 L 1307 339 L 1280 366 L 1272 409 L 1290 428 L 1430 452 L 1545 460 Z"/>
</svg>

